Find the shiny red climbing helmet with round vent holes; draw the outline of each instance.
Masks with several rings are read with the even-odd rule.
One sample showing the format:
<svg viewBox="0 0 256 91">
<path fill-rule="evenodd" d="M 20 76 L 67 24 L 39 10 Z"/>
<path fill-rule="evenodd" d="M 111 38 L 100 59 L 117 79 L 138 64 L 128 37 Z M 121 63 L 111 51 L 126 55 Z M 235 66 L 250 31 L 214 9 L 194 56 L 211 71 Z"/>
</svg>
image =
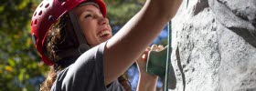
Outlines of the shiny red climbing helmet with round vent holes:
<svg viewBox="0 0 256 91">
<path fill-rule="evenodd" d="M 53 62 L 43 54 L 43 46 L 48 30 L 62 15 L 67 14 L 71 9 L 86 1 L 99 5 L 102 15 L 106 17 L 106 5 L 101 0 L 43 0 L 37 6 L 31 20 L 31 35 L 33 43 L 45 64 L 53 65 Z"/>
</svg>

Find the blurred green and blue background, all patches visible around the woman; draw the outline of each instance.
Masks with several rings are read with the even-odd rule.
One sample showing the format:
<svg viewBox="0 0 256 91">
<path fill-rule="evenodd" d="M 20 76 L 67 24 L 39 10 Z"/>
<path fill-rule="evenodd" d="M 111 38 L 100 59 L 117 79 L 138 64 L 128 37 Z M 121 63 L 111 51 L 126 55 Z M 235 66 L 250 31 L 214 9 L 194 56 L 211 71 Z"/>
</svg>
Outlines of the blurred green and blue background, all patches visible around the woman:
<svg viewBox="0 0 256 91">
<path fill-rule="evenodd" d="M 37 91 L 48 73 L 30 35 L 30 19 L 42 0 L 0 1 L 0 91 Z M 104 0 L 113 35 L 135 15 L 145 0 Z M 157 18 L 155 18 L 157 19 Z M 166 45 L 166 27 L 153 44 Z M 138 81 L 137 66 L 126 72 L 133 90 Z M 157 89 L 163 86 L 161 79 Z"/>
</svg>

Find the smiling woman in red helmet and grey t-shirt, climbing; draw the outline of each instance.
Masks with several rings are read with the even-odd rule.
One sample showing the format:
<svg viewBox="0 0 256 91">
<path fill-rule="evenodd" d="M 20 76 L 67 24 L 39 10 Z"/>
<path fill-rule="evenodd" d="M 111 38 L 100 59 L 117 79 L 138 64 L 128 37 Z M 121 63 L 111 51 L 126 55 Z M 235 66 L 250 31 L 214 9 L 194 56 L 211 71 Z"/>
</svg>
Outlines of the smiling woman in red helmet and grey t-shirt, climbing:
<svg viewBox="0 0 256 91">
<path fill-rule="evenodd" d="M 123 78 L 119 76 L 135 60 L 140 71 L 137 90 L 155 90 L 157 76 L 145 73 L 142 54 L 150 50 L 147 45 L 180 4 L 180 0 L 147 0 L 142 10 L 112 36 L 101 0 L 44 0 L 31 21 L 33 42 L 42 60 L 53 66 L 40 90 L 129 90 L 127 83 L 120 84 Z M 151 47 L 156 51 L 162 48 Z"/>
</svg>

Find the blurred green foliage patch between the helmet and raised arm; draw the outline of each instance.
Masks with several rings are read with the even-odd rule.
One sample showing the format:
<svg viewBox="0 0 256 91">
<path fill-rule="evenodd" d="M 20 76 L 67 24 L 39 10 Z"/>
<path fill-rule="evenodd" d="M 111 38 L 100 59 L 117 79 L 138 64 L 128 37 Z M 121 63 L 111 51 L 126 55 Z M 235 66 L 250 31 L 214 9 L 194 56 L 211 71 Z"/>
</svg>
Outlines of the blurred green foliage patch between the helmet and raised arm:
<svg viewBox="0 0 256 91">
<path fill-rule="evenodd" d="M 108 17 L 113 26 L 123 26 L 143 6 L 140 0 L 105 0 Z"/>
</svg>

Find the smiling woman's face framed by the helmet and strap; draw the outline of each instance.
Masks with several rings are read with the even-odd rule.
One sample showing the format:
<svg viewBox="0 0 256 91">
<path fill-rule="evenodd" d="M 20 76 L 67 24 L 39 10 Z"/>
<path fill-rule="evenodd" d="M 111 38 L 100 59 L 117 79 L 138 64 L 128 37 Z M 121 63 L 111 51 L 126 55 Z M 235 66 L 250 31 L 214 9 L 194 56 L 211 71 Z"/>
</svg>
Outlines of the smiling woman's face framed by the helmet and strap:
<svg viewBox="0 0 256 91">
<path fill-rule="evenodd" d="M 94 5 L 82 5 L 75 10 L 79 24 L 87 43 L 92 47 L 100 45 L 112 37 L 109 20 L 104 18 L 99 8 Z"/>
</svg>

